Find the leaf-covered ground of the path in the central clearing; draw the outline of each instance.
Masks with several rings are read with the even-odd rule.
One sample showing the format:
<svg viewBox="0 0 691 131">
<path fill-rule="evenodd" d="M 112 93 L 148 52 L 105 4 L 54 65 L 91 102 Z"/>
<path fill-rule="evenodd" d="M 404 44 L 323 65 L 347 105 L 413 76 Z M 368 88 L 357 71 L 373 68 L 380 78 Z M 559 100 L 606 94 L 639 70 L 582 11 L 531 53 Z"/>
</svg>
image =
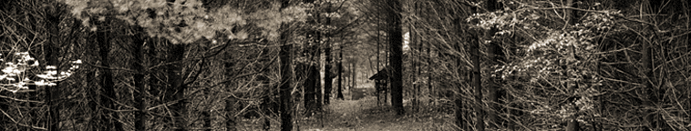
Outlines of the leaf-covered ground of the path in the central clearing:
<svg viewBox="0 0 691 131">
<path fill-rule="evenodd" d="M 376 97 L 335 100 L 325 113 L 298 120 L 301 131 L 415 131 L 453 130 L 452 111 L 423 106 L 416 112 L 404 100 L 405 116 L 397 116 L 391 106 L 376 106 Z"/>
</svg>

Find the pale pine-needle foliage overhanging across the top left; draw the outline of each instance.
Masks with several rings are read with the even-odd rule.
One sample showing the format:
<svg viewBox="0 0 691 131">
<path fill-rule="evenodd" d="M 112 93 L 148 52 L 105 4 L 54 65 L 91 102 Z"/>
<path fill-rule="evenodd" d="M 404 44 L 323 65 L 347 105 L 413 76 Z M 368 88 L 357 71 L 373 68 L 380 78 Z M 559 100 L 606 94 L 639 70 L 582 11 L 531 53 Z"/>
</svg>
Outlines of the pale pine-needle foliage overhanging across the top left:
<svg viewBox="0 0 691 131">
<path fill-rule="evenodd" d="M 270 39 L 278 37 L 277 29 L 282 22 L 304 21 L 304 8 L 291 6 L 279 12 L 278 4 L 265 10 L 245 14 L 240 8 L 223 5 L 205 8 L 198 0 L 62 0 L 72 5 L 72 14 L 82 24 L 96 31 L 93 21 L 104 21 L 113 16 L 129 25 L 139 25 L 151 37 L 164 37 L 174 44 L 189 44 L 201 38 L 246 39 L 248 32 L 236 31 L 237 26 L 253 25 L 262 28 L 262 35 Z M 217 35 L 217 33 L 222 35 Z"/>
</svg>

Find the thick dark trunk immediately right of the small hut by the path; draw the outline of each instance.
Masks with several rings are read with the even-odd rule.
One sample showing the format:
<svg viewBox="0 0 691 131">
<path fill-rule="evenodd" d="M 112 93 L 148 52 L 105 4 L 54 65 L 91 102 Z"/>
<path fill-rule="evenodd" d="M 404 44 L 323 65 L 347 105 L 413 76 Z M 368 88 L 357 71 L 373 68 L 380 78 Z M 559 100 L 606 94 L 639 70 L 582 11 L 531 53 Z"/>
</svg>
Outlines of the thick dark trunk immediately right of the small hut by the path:
<svg viewBox="0 0 691 131">
<path fill-rule="evenodd" d="M 394 107 L 397 115 L 404 115 L 406 111 L 403 108 L 403 31 L 401 15 L 398 15 L 402 12 L 402 6 L 398 0 L 388 0 L 388 5 L 387 13 L 390 19 L 388 19 L 387 36 L 392 53 L 388 64 L 392 67 L 392 74 L 389 76 L 391 78 L 391 106 Z"/>
</svg>

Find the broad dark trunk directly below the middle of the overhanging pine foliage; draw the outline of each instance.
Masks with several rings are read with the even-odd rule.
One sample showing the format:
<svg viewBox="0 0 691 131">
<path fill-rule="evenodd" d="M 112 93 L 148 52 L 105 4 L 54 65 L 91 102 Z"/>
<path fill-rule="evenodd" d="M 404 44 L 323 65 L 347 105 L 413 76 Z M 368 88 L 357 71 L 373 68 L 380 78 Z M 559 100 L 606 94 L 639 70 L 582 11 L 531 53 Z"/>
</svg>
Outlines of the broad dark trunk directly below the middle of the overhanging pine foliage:
<svg viewBox="0 0 691 131">
<path fill-rule="evenodd" d="M 173 63 L 168 65 L 168 84 L 169 88 L 166 91 L 167 96 L 170 96 L 168 102 L 173 102 L 171 105 L 173 126 L 176 131 L 187 130 L 187 121 L 184 119 L 184 115 L 187 112 L 186 100 L 184 99 L 184 91 L 186 86 L 182 85 L 184 79 L 182 79 L 182 57 L 185 54 L 185 45 L 169 45 L 168 50 L 168 63 Z"/>
</svg>

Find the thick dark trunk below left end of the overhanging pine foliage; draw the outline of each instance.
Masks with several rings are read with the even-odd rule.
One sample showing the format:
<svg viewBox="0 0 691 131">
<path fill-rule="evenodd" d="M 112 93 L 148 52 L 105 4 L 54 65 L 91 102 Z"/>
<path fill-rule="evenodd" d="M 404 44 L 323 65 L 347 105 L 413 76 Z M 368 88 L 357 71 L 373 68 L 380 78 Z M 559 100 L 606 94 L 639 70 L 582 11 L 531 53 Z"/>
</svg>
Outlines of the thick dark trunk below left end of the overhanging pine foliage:
<svg viewBox="0 0 691 131">
<path fill-rule="evenodd" d="M 97 25 L 105 26 L 108 25 L 108 17 L 106 18 L 106 22 L 97 22 Z M 101 66 L 104 67 L 110 67 L 110 59 L 108 53 L 110 52 L 110 37 L 108 37 L 108 29 L 104 30 L 99 30 L 96 35 L 97 35 L 97 41 L 102 42 L 99 43 L 100 49 L 98 50 L 98 53 L 101 57 Z M 115 84 L 113 83 L 113 75 L 110 71 L 109 68 L 102 68 L 102 74 L 101 74 L 101 81 L 100 81 L 100 104 L 113 110 L 117 110 L 117 106 L 115 106 Z M 122 124 L 118 122 L 119 120 L 119 115 L 117 112 L 108 110 L 108 109 L 102 109 L 104 113 L 101 114 L 99 117 L 100 124 L 103 127 L 102 129 L 104 130 L 117 130 L 121 131 L 123 130 Z"/>
</svg>

